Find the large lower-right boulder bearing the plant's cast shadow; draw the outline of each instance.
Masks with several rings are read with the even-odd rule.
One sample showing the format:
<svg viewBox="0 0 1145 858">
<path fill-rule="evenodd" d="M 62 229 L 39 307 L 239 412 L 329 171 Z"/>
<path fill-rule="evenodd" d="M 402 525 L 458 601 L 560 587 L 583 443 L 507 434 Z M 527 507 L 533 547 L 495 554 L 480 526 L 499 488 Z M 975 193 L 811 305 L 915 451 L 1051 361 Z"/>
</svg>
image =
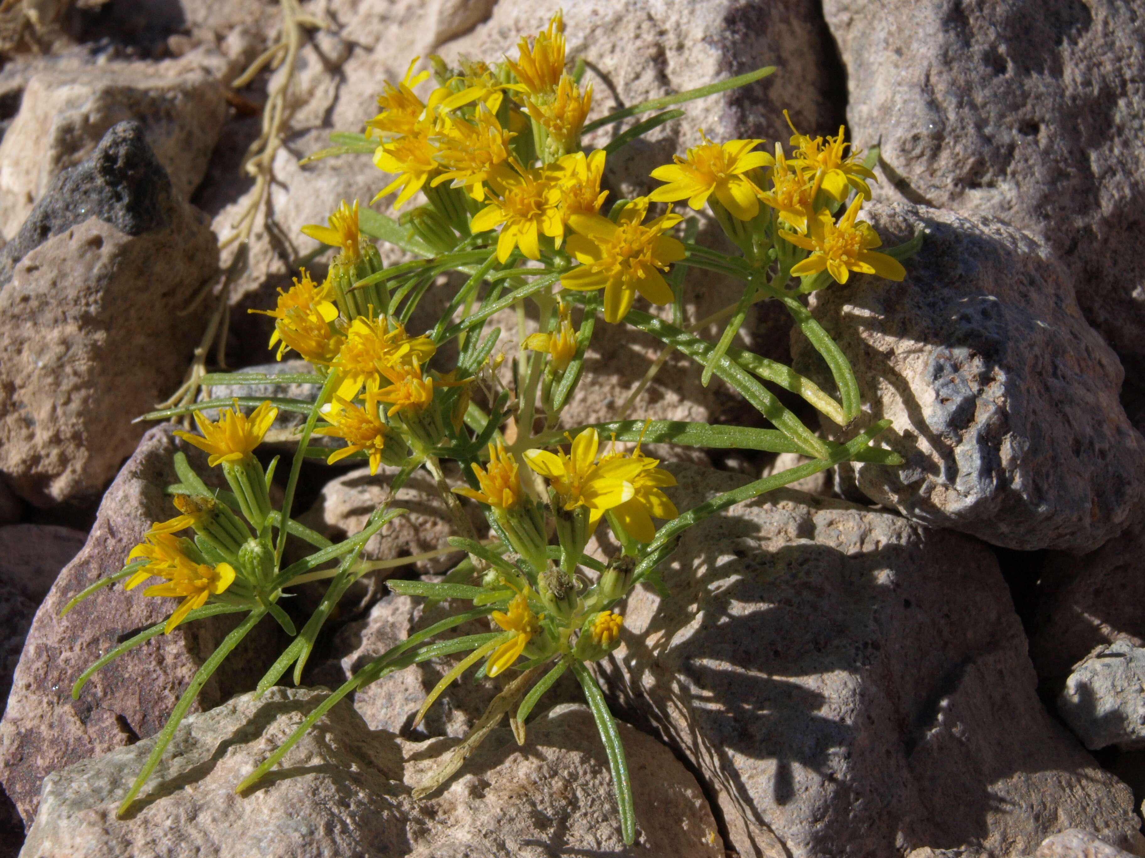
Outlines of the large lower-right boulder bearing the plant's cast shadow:
<svg viewBox="0 0 1145 858">
<path fill-rule="evenodd" d="M 687 510 L 748 478 L 673 466 Z M 695 766 L 741 855 L 1016 858 L 1084 826 L 1142 843 L 1127 786 L 1045 713 L 994 554 L 780 490 L 685 531 L 600 662 Z"/>
</svg>

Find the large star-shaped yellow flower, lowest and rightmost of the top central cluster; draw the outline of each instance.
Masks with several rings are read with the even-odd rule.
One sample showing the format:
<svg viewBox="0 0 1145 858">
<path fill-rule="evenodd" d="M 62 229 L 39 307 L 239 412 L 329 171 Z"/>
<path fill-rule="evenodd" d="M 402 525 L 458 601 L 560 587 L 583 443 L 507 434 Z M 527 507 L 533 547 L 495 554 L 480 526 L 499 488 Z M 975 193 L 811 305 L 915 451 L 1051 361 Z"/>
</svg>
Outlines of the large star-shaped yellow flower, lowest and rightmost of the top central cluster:
<svg viewBox="0 0 1145 858">
<path fill-rule="evenodd" d="M 568 249 L 583 264 L 563 275 L 561 285 L 575 292 L 603 288 L 607 321 L 623 319 L 637 292 L 654 304 L 672 302 L 672 289 L 660 272 L 684 259 L 684 245 L 662 233 L 682 219 L 669 210 L 642 224 L 647 212 L 648 198 L 638 197 L 616 223 L 600 215 L 569 217 L 579 235 L 569 237 Z"/>
</svg>

